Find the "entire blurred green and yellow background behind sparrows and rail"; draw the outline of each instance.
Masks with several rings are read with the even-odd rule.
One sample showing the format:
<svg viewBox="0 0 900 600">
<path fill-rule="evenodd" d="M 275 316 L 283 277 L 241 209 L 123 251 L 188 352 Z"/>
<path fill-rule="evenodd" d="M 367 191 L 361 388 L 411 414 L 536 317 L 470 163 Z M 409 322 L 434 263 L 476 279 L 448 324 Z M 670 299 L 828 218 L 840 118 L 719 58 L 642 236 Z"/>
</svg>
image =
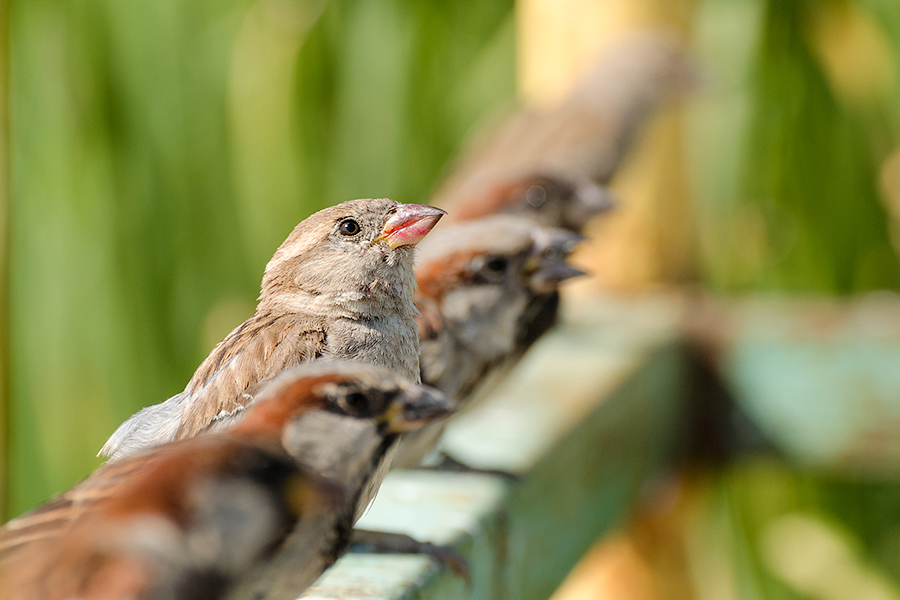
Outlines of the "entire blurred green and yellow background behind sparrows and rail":
<svg viewBox="0 0 900 600">
<path fill-rule="evenodd" d="M 0 28 L 6 516 L 183 389 L 297 222 L 427 202 L 475 131 L 638 30 L 697 77 L 619 170 L 592 289 L 900 287 L 897 0 L 2 0 Z M 608 597 L 900 598 L 894 476 L 753 459 L 661 489 L 594 553 Z"/>
</svg>

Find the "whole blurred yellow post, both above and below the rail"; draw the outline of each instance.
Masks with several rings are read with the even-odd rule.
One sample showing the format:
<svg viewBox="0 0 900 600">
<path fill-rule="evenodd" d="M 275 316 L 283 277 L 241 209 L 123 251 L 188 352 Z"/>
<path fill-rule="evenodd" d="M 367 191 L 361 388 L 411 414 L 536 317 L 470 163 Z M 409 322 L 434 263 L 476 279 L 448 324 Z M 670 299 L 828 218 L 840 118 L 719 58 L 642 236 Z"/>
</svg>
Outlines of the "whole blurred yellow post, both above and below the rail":
<svg viewBox="0 0 900 600">
<path fill-rule="evenodd" d="M 526 104 L 550 106 L 566 96 L 579 76 L 622 38 L 639 30 L 665 29 L 686 36 L 694 0 L 518 0 L 519 93 Z M 639 290 L 683 281 L 692 273 L 693 227 L 683 168 L 683 127 L 676 111 L 651 119 L 613 180 L 621 205 L 588 230 L 592 241 L 577 259 L 597 283 Z M 662 519 L 669 533 L 675 521 Z M 655 540 L 648 553 L 631 528 L 601 541 L 577 566 L 553 600 L 668 600 L 696 597 L 684 561 L 662 580 L 660 556 L 677 555 Z M 678 584 L 673 584 L 677 581 Z"/>
</svg>

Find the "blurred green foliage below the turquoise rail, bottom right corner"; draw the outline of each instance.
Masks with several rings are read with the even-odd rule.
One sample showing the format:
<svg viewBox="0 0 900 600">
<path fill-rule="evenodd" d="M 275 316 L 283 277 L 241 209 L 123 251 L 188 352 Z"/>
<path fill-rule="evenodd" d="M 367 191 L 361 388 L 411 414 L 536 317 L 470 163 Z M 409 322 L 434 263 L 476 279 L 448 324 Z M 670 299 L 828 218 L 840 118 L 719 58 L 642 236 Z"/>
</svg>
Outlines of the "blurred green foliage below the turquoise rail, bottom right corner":
<svg viewBox="0 0 900 600">
<path fill-rule="evenodd" d="M 900 597 L 900 494 L 895 481 L 753 458 L 704 484 L 695 527 L 724 540 L 734 598 Z M 721 556 L 695 555 L 700 581 L 721 581 Z M 724 549 L 724 550 L 723 550 Z M 715 585 L 715 584 L 713 584 Z M 704 584 L 700 584 L 704 587 Z M 719 587 L 722 590 L 723 588 Z"/>
</svg>

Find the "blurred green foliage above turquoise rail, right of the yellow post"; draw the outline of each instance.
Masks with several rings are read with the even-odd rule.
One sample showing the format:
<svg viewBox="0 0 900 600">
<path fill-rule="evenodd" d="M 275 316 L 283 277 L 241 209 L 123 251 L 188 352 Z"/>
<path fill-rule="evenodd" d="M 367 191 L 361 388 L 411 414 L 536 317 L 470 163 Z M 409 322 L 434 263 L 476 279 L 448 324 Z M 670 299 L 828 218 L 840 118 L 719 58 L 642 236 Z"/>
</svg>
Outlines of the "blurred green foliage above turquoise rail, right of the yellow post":
<svg viewBox="0 0 900 600">
<path fill-rule="evenodd" d="M 890 0 L 700 4 L 711 73 L 689 150 L 711 287 L 900 287 L 880 189 L 900 140 L 898 27 Z"/>
</svg>

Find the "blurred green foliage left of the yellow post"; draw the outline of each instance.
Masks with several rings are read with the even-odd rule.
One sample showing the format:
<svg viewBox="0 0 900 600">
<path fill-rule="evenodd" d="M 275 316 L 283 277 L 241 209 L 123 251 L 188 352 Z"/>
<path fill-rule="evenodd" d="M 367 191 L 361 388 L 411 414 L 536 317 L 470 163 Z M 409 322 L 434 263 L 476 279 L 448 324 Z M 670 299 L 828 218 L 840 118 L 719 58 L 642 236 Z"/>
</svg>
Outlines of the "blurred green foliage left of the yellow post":
<svg viewBox="0 0 900 600">
<path fill-rule="evenodd" d="M 12 3 L 12 514 L 183 389 L 297 222 L 427 200 L 513 100 L 512 8 Z"/>
</svg>

